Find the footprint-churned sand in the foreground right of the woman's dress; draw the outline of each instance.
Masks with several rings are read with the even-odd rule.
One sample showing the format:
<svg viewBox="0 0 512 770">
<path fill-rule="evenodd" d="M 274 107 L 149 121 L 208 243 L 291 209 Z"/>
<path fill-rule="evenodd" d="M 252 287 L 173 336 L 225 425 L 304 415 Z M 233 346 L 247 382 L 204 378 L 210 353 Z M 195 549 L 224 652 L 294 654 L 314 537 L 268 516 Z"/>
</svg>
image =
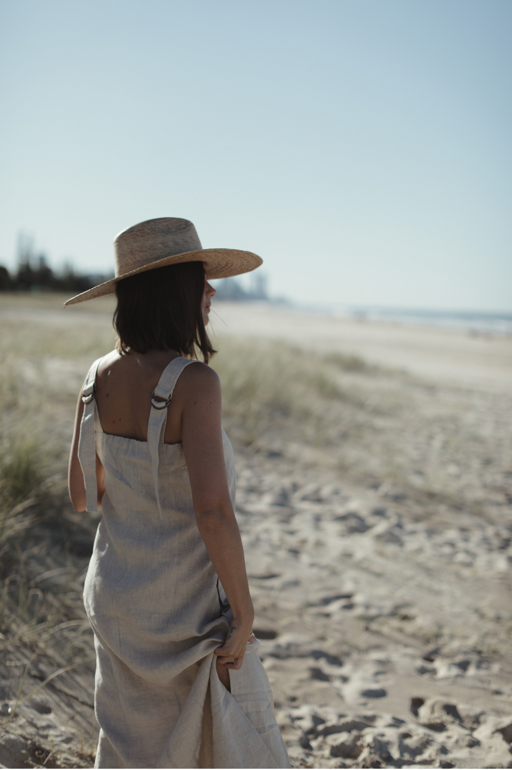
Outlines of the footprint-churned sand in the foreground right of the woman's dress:
<svg viewBox="0 0 512 770">
<path fill-rule="evenodd" d="M 510 529 L 458 511 L 417 521 L 407 499 L 298 459 L 238 468 L 256 633 L 294 764 L 510 766 Z"/>
</svg>

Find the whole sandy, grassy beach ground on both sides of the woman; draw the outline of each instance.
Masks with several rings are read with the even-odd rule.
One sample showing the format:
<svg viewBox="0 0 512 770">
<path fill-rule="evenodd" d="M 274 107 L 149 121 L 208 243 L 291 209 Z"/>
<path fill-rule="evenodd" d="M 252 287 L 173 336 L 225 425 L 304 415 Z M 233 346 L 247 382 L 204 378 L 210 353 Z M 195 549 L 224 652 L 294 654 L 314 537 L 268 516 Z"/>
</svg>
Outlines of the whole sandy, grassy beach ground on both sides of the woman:
<svg viewBox="0 0 512 770">
<path fill-rule="evenodd" d="M 61 300 L 0 295 L 2 436 L 33 404 L 53 453 L 45 494 L 13 514 L 35 529 L 9 541 L 26 556 L 12 555 L 0 629 L 6 767 L 94 761 L 80 586 L 97 520 L 66 502 L 65 456 L 80 384 L 113 344 L 112 298 Z M 292 765 L 512 766 L 512 337 L 215 300 L 211 329 Z M 24 615 L 21 569 L 35 592 Z M 37 591 L 59 598 L 51 633 Z"/>
</svg>

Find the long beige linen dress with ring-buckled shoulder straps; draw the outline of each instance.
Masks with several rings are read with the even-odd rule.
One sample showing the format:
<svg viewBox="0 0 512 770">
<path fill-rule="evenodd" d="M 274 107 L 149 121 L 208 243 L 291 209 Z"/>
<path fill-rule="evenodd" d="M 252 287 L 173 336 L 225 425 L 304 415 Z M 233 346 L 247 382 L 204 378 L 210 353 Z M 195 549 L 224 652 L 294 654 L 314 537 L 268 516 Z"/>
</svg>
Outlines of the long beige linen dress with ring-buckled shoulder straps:
<svg viewBox="0 0 512 770">
<path fill-rule="evenodd" d="M 182 444 L 163 443 L 172 390 L 193 362 L 175 358 L 163 371 L 148 440 L 139 441 L 103 433 L 100 360 L 85 380 L 79 437 L 87 511 L 97 510 L 95 452 L 105 469 L 84 586 L 97 657 L 95 767 L 289 768 L 259 642 L 247 645 L 240 671 L 229 671 L 230 693 L 216 673 L 213 650 L 233 615 L 197 529 Z M 234 506 L 224 432 L 223 447 Z"/>
</svg>

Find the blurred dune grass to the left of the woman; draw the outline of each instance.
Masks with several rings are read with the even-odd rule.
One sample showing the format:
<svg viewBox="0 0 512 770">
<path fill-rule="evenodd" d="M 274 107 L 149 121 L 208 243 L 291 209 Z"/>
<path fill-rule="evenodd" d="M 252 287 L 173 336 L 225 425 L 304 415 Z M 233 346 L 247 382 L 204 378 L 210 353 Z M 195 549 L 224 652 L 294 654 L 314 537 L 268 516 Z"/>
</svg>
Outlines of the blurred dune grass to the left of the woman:
<svg viewBox="0 0 512 770">
<path fill-rule="evenodd" d="M 31 299 L 21 297 L 22 310 L 47 306 L 45 297 Z M 91 657 L 81 594 L 97 521 L 72 511 L 67 460 L 80 384 L 114 339 L 109 323 L 2 319 L 0 649 L 50 645 L 69 664 Z"/>
</svg>

